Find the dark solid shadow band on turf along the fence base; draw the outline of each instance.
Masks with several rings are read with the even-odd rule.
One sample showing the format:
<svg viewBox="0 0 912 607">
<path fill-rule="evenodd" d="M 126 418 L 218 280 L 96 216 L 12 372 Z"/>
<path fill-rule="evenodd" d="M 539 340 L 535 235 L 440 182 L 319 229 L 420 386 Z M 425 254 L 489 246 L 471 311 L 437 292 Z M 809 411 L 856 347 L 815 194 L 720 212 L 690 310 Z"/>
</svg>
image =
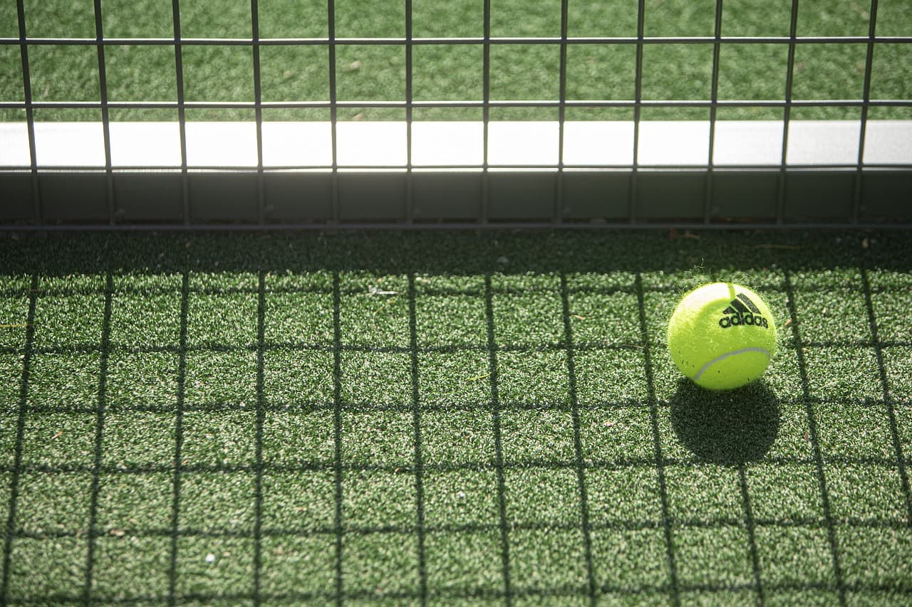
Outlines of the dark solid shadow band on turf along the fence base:
<svg viewBox="0 0 912 607">
<path fill-rule="evenodd" d="M 752 231 L 0 234 L 0 273 L 712 273 L 860 264 L 910 272 L 906 248 L 906 238 L 867 232 L 817 232 L 797 244 L 785 233 Z"/>
</svg>

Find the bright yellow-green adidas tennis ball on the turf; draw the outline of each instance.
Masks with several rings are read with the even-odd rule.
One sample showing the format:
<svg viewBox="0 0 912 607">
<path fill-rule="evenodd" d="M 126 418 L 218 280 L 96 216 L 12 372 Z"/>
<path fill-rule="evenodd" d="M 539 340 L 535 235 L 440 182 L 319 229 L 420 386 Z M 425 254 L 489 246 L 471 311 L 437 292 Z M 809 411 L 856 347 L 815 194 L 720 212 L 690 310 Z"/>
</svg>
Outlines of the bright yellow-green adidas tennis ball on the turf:
<svg viewBox="0 0 912 607">
<path fill-rule="evenodd" d="M 763 375 L 776 353 L 776 325 L 760 295 L 741 284 L 704 284 L 668 321 L 668 350 L 698 386 L 729 390 Z"/>
</svg>

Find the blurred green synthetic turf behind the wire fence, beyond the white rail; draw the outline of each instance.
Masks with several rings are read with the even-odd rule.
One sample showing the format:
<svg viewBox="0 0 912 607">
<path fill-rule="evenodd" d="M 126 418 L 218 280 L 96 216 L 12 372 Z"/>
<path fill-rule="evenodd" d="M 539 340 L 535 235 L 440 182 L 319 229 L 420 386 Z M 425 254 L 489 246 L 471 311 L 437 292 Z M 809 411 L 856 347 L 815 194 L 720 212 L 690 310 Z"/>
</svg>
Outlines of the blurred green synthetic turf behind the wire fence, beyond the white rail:
<svg viewBox="0 0 912 607">
<path fill-rule="evenodd" d="M 738 0 L 724 5 L 723 36 L 788 36 L 790 0 Z M 96 36 L 90 0 L 26 0 L 26 34 L 32 37 Z M 414 0 L 415 37 L 482 36 L 481 0 Z M 912 12 L 906 0 L 878 3 L 877 35 L 908 36 Z M 402 0 L 337 0 L 336 36 L 403 37 Z M 107 37 L 172 37 L 171 0 L 105 0 Z M 865 3 L 803 1 L 798 36 L 867 36 Z M 323 0 L 264 0 L 259 3 L 263 38 L 326 37 L 328 18 Z M 713 36 L 715 2 L 648 0 L 646 36 Z M 249 0 L 184 0 L 181 33 L 185 37 L 252 36 Z M 491 35 L 560 36 L 559 0 L 492 0 Z M 637 2 L 612 0 L 567 5 L 567 34 L 637 36 Z M 0 7 L 0 36 L 18 38 L 15 3 Z M 635 46 L 571 45 L 567 49 L 566 96 L 573 100 L 633 99 Z M 787 46 L 727 44 L 720 52 L 719 98 L 776 100 L 784 98 Z M 93 46 L 28 48 L 35 101 L 98 101 L 98 54 Z M 184 46 L 184 94 L 188 101 L 253 101 L 254 61 L 249 46 Z M 711 44 L 648 45 L 643 53 L 644 99 L 709 99 Z M 0 46 L 0 100 L 22 101 L 19 46 Z M 865 44 L 799 45 L 795 51 L 793 98 L 863 98 Z M 264 101 L 326 101 L 329 98 L 326 46 L 264 46 L 261 48 Z M 491 98 L 494 100 L 559 98 L 560 49 L 557 45 L 494 45 L 491 49 Z M 107 46 L 106 77 L 112 101 L 176 101 L 173 47 Z M 416 46 L 413 56 L 415 100 L 482 99 L 482 48 L 479 45 Z M 872 99 L 912 96 L 912 46 L 878 44 L 871 77 Z M 337 94 L 343 101 L 406 98 L 406 57 L 403 46 L 341 44 L 337 46 Z M 24 112 L 3 110 L 0 118 L 24 119 Z M 114 120 L 174 120 L 174 110 L 113 110 Z M 193 120 L 254 119 L 253 111 L 202 109 L 188 112 Z M 404 119 L 402 109 L 343 108 L 340 119 Z M 480 109 L 424 108 L 415 119 L 482 118 Z M 497 108 L 492 119 L 554 120 L 552 108 Z M 628 109 L 571 109 L 567 119 L 631 119 Z M 645 119 L 708 119 L 709 109 L 650 108 Z M 728 108 L 720 119 L 781 119 L 777 108 Z M 794 118 L 857 119 L 857 108 L 804 108 Z M 870 118 L 909 118 L 908 108 L 875 108 Z M 98 120 L 96 110 L 45 109 L 39 120 Z M 328 119 L 327 109 L 269 109 L 264 119 Z"/>
</svg>

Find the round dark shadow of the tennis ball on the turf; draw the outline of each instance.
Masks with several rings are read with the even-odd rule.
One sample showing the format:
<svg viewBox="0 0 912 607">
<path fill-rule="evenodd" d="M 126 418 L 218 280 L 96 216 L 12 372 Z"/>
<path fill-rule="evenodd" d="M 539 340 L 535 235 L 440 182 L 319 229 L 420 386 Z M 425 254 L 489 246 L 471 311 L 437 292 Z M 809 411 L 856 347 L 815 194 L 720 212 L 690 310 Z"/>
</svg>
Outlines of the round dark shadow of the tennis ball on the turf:
<svg viewBox="0 0 912 607">
<path fill-rule="evenodd" d="M 779 434 L 779 399 L 761 380 L 715 392 L 681 378 L 671 426 L 697 457 L 726 466 L 763 458 Z"/>
</svg>

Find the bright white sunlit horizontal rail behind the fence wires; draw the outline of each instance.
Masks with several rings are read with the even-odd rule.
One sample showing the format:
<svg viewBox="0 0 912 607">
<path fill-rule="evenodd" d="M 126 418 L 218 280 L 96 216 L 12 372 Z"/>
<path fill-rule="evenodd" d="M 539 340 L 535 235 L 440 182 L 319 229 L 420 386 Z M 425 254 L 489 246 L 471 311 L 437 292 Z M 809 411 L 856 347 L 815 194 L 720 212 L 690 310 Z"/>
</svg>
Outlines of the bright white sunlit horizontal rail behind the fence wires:
<svg viewBox="0 0 912 607">
<path fill-rule="evenodd" d="M 852 120 L 789 122 L 787 165 L 855 166 L 861 123 Z M 783 129 L 780 121 L 716 122 L 713 164 L 720 167 L 779 166 Z M 100 122 L 37 122 L 39 167 L 104 167 Z M 405 122 L 338 122 L 337 166 L 408 166 Z M 186 123 L 189 167 L 256 167 L 253 122 Z M 111 122 L 111 164 L 118 167 L 180 167 L 180 128 L 176 122 Z M 490 122 L 489 166 L 553 167 L 560 162 L 557 122 Z M 706 166 L 710 123 L 643 121 L 639 126 L 640 166 Z M 0 123 L 0 166 L 29 167 L 26 123 Z M 912 120 L 869 120 L 865 164 L 912 165 Z M 634 123 L 565 122 L 564 164 L 630 166 L 634 164 Z M 331 167 L 329 122 L 264 122 L 264 167 Z M 484 164 L 482 122 L 413 122 L 411 165 L 480 167 Z"/>
</svg>

